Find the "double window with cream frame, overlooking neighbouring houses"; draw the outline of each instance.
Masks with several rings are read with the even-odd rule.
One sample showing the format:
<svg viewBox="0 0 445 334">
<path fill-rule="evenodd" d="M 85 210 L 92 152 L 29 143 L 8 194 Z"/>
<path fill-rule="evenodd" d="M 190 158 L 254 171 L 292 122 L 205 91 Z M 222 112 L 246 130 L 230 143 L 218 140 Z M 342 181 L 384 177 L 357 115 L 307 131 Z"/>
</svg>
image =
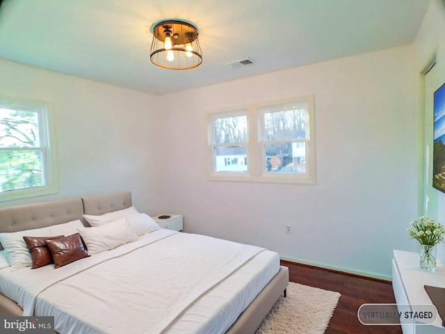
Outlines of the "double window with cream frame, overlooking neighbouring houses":
<svg viewBox="0 0 445 334">
<path fill-rule="evenodd" d="M 312 96 L 209 113 L 209 180 L 315 183 Z"/>
</svg>

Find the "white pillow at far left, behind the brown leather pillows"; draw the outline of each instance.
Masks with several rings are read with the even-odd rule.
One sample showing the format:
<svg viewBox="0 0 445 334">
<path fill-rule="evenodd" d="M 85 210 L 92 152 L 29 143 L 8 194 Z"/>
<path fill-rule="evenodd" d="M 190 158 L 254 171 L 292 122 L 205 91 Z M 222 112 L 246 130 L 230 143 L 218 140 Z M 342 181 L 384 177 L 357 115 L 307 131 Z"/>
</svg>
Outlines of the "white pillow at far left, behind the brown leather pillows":
<svg viewBox="0 0 445 334">
<path fill-rule="evenodd" d="M 33 264 L 31 253 L 29 253 L 23 237 L 51 237 L 51 232 L 49 232 L 49 228 L 36 228 L 35 230 L 0 233 L 0 242 L 6 250 L 8 263 L 13 270 Z"/>
</svg>

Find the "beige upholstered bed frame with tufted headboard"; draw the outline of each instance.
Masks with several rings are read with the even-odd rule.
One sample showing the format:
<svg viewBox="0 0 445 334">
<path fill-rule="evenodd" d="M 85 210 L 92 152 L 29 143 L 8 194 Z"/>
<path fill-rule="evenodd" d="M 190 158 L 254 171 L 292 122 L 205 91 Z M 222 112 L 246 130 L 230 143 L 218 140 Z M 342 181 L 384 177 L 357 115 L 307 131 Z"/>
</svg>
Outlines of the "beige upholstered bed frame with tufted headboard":
<svg viewBox="0 0 445 334">
<path fill-rule="evenodd" d="M 88 223 L 83 219 L 83 214 L 99 215 L 127 207 L 131 207 L 131 193 L 129 191 L 5 207 L 0 209 L 0 232 L 42 228 L 76 219 L 80 219 L 83 225 L 88 226 Z M 285 296 L 288 284 L 289 269 L 282 266 L 275 277 L 270 280 L 248 308 L 241 313 L 226 333 L 254 333 L 277 299 L 283 293 Z M 0 294 L 0 315 L 21 316 L 23 310 L 17 303 Z"/>
</svg>

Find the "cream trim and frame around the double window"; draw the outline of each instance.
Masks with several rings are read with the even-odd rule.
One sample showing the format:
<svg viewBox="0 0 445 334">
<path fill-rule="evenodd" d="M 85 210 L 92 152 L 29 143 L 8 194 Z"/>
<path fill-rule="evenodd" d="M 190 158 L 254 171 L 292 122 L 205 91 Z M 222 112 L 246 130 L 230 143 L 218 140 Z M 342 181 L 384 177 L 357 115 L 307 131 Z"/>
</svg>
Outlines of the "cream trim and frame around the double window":
<svg viewBox="0 0 445 334">
<path fill-rule="evenodd" d="M 262 111 L 261 107 L 273 106 L 275 104 L 288 104 L 291 102 L 307 104 L 307 114 L 309 116 L 309 138 L 306 147 L 305 174 L 291 173 L 269 173 L 263 162 L 264 142 L 261 139 Z M 246 143 L 246 154 L 248 159 L 247 172 L 216 172 L 214 157 L 214 120 L 220 117 L 242 116 L 248 117 L 248 143 Z M 248 106 L 238 106 L 233 109 L 219 109 L 207 113 L 207 152 L 209 157 L 209 168 L 207 169 L 207 180 L 209 181 L 230 181 L 230 182 L 270 182 L 270 183 L 291 183 L 291 184 L 315 184 L 316 183 L 316 159 L 315 159 L 315 118 L 314 118 L 314 96 L 307 95 L 293 97 L 286 100 L 263 102 L 260 104 L 250 104 Z M 230 143 L 228 145 L 237 145 Z"/>
</svg>

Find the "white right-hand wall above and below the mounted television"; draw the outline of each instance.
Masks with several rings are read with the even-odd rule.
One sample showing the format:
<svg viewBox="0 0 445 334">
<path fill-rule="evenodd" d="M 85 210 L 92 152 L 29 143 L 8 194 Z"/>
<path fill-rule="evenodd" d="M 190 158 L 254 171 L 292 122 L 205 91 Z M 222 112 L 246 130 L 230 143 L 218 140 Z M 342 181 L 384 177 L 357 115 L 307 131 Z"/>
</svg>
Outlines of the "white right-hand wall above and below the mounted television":
<svg viewBox="0 0 445 334">
<path fill-rule="evenodd" d="M 439 86 L 445 82 L 444 6 L 445 3 L 440 0 L 433 0 L 430 3 L 427 13 L 423 18 L 421 28 L 417 33 L 416 40 L 414 41 L 416 73 L 419 75 L 423 67 L 430 61 L 432 55 L 436 54 Z M 439 86 L 437 86 L 437 88 L 439 88 Z M 419 121 L 423 121 L 423 119 L 421 118 Z M 445 224 L 445 193 L 435 191 L 435 195 L 437 196 L 437 219 Z M 439 260 L 445 264 L 445 245 L 440 244 L 438 251 Z"/>
</svg>

